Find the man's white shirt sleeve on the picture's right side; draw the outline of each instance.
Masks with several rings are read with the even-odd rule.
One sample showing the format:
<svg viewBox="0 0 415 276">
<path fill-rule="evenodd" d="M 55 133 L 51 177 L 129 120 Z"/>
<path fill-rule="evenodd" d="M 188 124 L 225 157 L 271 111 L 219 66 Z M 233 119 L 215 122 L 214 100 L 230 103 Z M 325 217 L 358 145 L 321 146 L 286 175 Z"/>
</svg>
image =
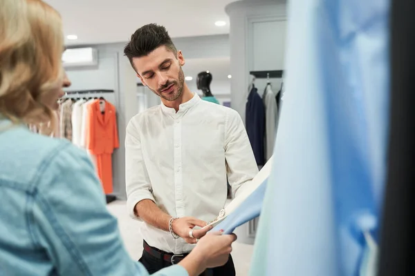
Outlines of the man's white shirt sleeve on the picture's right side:
<svg viewBox="0 0 415 276">
<path fill-rule="evenodd" d="M 258 173 L 254 152 L 238 112 L 229 108 L 225 129 L 225 159 L 232 195 Z"/>
</svg>

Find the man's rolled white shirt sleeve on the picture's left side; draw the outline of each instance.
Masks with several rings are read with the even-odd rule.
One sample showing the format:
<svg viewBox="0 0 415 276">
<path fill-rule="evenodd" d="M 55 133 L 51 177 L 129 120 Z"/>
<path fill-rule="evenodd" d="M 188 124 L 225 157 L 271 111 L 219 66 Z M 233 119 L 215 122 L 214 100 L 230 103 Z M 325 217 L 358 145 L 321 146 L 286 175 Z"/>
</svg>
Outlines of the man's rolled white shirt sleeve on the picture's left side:
<svg viewBox="0 0 415 276">
<path fill-rule="evenodd" d="M 134 211 L 136 204 L 143 199 L 155 200 L 142 155 L 140 132 L 133 121 L 129 122 L 125 135 L 125 182 L 129 215 L 141 221 Z"/>
</svg>

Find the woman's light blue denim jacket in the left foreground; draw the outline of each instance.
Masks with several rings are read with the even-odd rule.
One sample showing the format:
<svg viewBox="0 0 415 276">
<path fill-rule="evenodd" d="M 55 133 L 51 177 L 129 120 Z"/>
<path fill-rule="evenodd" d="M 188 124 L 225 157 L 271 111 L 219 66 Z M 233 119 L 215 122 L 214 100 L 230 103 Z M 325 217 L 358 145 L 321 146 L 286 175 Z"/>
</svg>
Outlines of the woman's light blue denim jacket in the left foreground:
<svg viewBox="0 0 415 276">
<path fill-rule="evenodd" d="M 0 275 L 149 275 L 125 250 L 86 152 L 10 124 L 0 119 Z"/>
</svg>

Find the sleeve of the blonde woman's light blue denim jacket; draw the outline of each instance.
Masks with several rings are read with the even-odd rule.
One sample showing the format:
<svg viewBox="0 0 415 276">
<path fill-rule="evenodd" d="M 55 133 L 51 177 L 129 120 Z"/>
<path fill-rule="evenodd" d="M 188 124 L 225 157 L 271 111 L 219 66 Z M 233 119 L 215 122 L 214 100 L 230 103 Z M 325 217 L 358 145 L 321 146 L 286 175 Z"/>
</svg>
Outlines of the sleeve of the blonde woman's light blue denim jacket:
<svg viewBox="0 0 415 276">
<path fill-rule="evenodd" d="M 50 160 L 28 217 L 35 245 L 59 275 L 149 275 L 131 259 L 85 152 L 69 145 Z M 155 275 L 186 276 L 181 266 Z"/>
</svg>

